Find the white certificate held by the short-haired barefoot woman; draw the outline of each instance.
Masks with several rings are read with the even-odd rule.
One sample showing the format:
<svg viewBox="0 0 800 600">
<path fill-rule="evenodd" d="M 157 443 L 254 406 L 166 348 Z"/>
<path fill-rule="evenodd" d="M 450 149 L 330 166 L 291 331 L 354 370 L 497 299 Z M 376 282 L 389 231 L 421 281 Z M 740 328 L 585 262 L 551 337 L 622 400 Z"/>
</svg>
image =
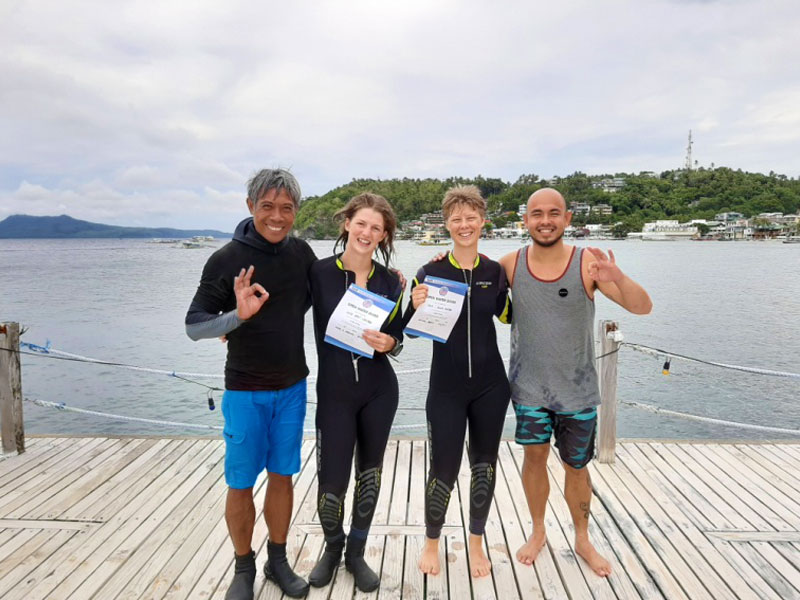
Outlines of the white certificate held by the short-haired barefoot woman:
<svg viewBox="0 0 800 600">
<path fill-rule="evenodd" d="M 458 321 L 469 288 L 466 283 L 439 277 L 426 277 L 423 283 L 428 286 L 428 297 L 409 320 L 405 332 L 444 344 Z"/>
</svg>

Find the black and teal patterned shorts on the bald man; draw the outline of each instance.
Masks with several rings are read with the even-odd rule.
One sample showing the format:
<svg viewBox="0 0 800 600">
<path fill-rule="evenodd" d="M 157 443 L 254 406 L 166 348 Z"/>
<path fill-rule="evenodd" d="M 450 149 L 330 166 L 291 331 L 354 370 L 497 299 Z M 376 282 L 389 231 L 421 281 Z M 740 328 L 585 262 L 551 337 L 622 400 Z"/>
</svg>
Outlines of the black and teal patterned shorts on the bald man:
<svg viewBox="0 0 800 600">
<path fill-rule="evenodd" d="M 514 403 L 517 415 L 516 442 L 523 445 L 549 444 L 555 432 L 561 460 L 573 469 L 582 469 L 594 456 L 597 407 L 554 412 L 543 406 Z"/>
</svg>

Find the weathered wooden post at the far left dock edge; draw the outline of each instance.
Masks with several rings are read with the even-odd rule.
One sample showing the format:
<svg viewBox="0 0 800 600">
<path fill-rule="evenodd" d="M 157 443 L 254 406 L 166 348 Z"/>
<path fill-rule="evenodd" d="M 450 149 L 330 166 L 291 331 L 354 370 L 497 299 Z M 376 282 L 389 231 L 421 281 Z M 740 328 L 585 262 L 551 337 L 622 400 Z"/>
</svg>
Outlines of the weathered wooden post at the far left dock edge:
<svg viewBox="0 0 800 600">
<path fill-rule="evenodd" d="M 25 452 L 19 323 L 0 323 L 0 429 L 3 452 Z"/>
</svg>

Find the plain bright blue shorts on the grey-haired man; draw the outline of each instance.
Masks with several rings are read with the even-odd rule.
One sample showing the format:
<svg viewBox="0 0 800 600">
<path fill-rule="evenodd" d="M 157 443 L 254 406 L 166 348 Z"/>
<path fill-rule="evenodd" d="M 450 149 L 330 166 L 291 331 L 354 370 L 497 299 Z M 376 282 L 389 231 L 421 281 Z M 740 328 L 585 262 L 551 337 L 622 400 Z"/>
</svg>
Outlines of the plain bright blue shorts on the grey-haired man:
<svg viewBox="0 0 800 600">
<path fill-rule="evenodd" d="M 306 418 L 306 380 L 276 391 L 225 390 L 225 482 L 244 490 L 266 469 L 278 475 L 300 470 Z"/>
</svg>

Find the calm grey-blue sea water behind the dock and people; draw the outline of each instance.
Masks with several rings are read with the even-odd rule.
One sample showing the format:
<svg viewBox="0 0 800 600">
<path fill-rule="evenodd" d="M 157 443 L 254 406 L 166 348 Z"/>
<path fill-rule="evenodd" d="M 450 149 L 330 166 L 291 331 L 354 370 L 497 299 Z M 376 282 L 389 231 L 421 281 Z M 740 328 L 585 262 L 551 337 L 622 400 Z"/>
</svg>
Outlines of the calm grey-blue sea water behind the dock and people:
<svg viewBox="0 0 800 600">
<path fill-rule="evenodd" d="M 217 242 L 219 247 L 223 242 Z M 597 318 L 620 321 L 625 340 L 706 360 L 800 372 L 800 246 L 776 242 L 696 243 L 598 241 L 654 302 L 637 317 L 598 295 Z M 579 245 L 586 245 L 580 242 Z M 332 242 L 313 242 L 327 256 Z M 485 241 L 497 259 L 518 249 L 510 240 Z M 0 321 L 28 328 L 23 341 L 169 371 L 221 373 L 225 346 L 192 342 L 183 318 L 200 272 L 214 248 L 181 249 L 145 240 L 0 240 Z M 400 242 L 396 265 L 409 280 L 438 249 Z M 243 265 L 244 266 L 244 265 Z M 509 328 L 496 323 L 508 356 Z M 430 342 L 407 341 L 397 371 L 429 365 Z M 306 349 L 316 372 L 311 313 Z M 663 360 L 623 347 L 621 400 L 731 421 L 800 429 L 800 380 L 779 379 Z M 26 396 L 123 415 L 222 424 L 221 393 L 210 412 L 205 389 L 175 378 L 108 366 L 22 357 Z M 427 374 L 399 374 L 398 433 L 423 435 Z M 222 386 L 221 380 L 205 383 Z M 309 400 L 315 401 L 314 386 Z M 110 421 L 25 403 L 29 433 L 197 435 L 175 427 Z M 306 427 L 313 428 L 310 404 Z M 513 434 L 513 418 L 506 435 Z M 769 439 L 758 431 L 709 425 L 620 406 L 618 432 L 636 438 Z M 209 435 L 215 435 L 208 432 Z"/>
</svg>

